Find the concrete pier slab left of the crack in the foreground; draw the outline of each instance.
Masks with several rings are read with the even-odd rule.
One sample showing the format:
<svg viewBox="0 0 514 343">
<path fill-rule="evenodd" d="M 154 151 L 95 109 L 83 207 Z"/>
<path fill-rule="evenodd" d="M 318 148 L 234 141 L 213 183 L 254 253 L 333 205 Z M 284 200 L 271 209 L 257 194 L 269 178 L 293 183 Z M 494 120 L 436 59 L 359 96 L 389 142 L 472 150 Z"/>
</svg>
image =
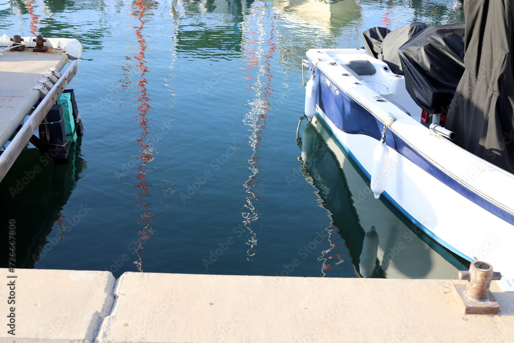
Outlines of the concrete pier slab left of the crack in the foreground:
<svg viewBox="0 0 514 343">
<path fill-rule="evenodd" d="M 116 279 L 110 272 L 1 270 L 5 281 L 0 299 L 2 341 L 93 341 L 104 317 L 111 312 Z M 6 326 L 11 313 L 14 335 Z"/>
</svg>

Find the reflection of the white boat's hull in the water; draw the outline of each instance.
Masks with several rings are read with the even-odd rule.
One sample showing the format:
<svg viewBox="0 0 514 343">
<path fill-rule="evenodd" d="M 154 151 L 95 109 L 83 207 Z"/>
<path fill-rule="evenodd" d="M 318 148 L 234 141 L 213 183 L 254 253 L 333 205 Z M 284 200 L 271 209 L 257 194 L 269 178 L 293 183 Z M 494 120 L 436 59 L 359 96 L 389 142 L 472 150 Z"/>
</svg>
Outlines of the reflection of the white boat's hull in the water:
<svg viewBox="0 0 514 343">
<path fill-rule="evenodd" d="M 369 180 L 341 152 L 321 123 L 316 124 L 322 137 L 313 123 L 307 123 L 299 139 L 304 175 L 317 189 L 335 231 L 344 240 L 356 276 L 456 279 L 458 270 L 467 269 L 465 261 L 428 238 L 387 201 L 376 200 Z M 301 127 L 302 123 L 299 132 Z M 336 265 L 340 254 L 323 251 L 322 255 L 325 275 L 332 269 L 327 264 Z"/>
</svg>

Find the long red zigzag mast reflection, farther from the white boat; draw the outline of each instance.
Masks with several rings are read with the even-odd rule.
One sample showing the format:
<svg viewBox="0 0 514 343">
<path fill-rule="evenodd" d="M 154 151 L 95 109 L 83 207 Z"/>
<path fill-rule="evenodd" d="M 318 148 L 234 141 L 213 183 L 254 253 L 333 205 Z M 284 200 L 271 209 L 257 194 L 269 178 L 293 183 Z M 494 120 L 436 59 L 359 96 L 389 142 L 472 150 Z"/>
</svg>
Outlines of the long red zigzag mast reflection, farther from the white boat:
<svg viewBox="0 0 514 343">
<path fill-rule="evenodd" d="M 137 268 L 139 269 L 140 272 L 144 272 L 143 259 L 141 257 L 141 250 L 143 250 L 144 242 L 149 241 L 152 236 L 153 229 L 152 229 L 152 225 L 150 224 L 149 221 L 154 215 L 149 209 L 148 201 L 146 201 L 149 196 L 148 195 L 149 185 L 148 185 L 148 183 L 146 183 L 147 178 L 145 175 L 148 172 L 148 170 L 144 169 L 144 166 L 153 159 L 153 155 L 151 153 L 151 146 L 145 142 L 146 136 L 150 133 L 148 131 L 148 127 L 149 127 L 148 118 L 146 118 L 146 115 L 148 114 L 148 110 L 150 109 L 150 105 L 148 104 L 148 101 L 150 99 L 146 96 L 145 85 L 146 85 L 147 81 L 146 81 L 146 78 L 144 77 L 148 67 L 146 67 L 145 60 L 144 60 L 144 51 L 146 50 L 146 45 L 145 45 L 146 42 L 143 38 L 143 35 L 141 34 L 141 30 L 143 29 L 143 25 L 145 23 L 145 21 L 142 20 L 142 16 L 144 14 L 144 11 L 146 10 L 146 6 L 143 6 L 142 2 L 143 2 L 143 0 L 138 0 L 135 4 L 135 6 L 137 6 L 140 10 L 137 15 L 137 19 L 139 20 L 140 25 L 135 31 L 136 37 L 137 37 L 137 42 L 139 43 L 139 52 L 138 52 L 137 56 L 134 56 L 134 58 L 139 62 L 136 65 L 136 67 L 138 67 L 141 70 L 141 74 L 139 76 L 140 79 L 138 81 L 139 96 L 137 98 L 137 101 L 139 102 L 139 105 L 137 106 L 138 115 L 136 117 L 136 120 L 139 122 L 139 126 L 141 127 L 141 130 L 142 130 L 141 135 L 139 136 L 138 139 L 136 139 L 138 145 L 141 147 L 141 155 L 138 156 L 141 159 L 141 161 L 138 164 L 139 166 L 138 166 L 138 170 L 137 170 L 137 175 L 134 176 L 134 178 L 138 181 L 138 184 L 135 185 L 134 187 L 141 191 L 141 193 L 136 195 L 136 197 L 138 198 L 138 201 L 136 202 L 136 204 L 143 209 L 143 214 L 141 214 L 141 219 L 139 221 L 144 225 L 144 228 L 138 232 L 138 234 L 141 236 L 141 239 L 139 241 L 139 247 L 136 249 L 136 254 L 139 258 L 139 261 L 134 262 L 135 264 L 137 264 Z"/>
</svg>

